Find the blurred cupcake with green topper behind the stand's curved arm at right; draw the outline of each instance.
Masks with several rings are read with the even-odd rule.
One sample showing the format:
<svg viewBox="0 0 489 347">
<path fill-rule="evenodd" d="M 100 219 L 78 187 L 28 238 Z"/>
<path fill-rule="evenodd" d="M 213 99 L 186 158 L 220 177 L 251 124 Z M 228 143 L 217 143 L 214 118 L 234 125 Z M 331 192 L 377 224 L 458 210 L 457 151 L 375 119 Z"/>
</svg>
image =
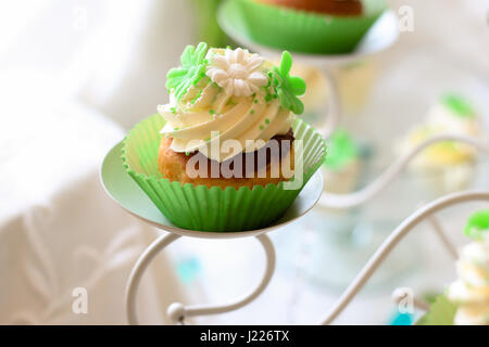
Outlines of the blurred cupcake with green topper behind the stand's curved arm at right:
<svg viewBox="0 0 489 347">
<path fill-rule="evenodd" d="M 439 134 L 459 134 L 479 138 L 479 125 L 471 104 L 461 95 L 444 94 L 431 107 L 424 123 L 413 127 L 401 144 L 405 153 L 422 142 Z M 412 162 L 411 169 L 430 190 L 447 193 L 468 185 L 477 150 L 456 142 L 444 141 L 426 147 Z"/>
</svg>

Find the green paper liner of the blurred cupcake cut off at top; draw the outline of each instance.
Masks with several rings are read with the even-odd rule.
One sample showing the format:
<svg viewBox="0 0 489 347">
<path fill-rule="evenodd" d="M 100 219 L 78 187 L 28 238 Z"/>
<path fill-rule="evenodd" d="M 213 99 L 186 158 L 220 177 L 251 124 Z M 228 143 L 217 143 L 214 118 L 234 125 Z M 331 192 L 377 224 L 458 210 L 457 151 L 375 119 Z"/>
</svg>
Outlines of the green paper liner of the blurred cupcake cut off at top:
<svg viewBox="0 0 489 347">
<path fill-rule="evenodd" d="M 361 16 L 325 15 L 275 7 L 254 0 L 224 3 L 220 16 L 227 16 L 235 29 L 252 41 L 302 53 L 341 54 L 354 50 L 363 36 L 387 9 L 384 0 L 364 0 Z"/>
</svg>

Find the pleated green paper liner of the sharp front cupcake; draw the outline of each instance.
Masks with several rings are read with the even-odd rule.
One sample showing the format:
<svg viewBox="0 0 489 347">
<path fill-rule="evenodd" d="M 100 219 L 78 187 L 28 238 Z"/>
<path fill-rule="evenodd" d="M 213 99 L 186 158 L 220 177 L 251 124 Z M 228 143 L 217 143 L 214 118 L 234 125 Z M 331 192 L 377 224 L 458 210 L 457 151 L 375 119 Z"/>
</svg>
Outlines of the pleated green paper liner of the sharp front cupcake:
<svg viewBox="0 0 489 347">
<path fill-rule="evenodd" d="M 225 190 L 195 187 L 162 178 L 158 151 L 165 121 L 152 115 L 137 124 L 124 140 L 123 164 L 130 177 L 175 226 L 197 231 L 246 231 L 264 228 L 278 219 L 293 203 L 302 188 L 324 162 L 325 142 L 317 131 L 299 118 L 292 129 L 303 140 L 303 181 L 297 190 L 285 190 L 284 182 L 253 189 Z M 297 154 L 300 157 L 300 153 Z M 293 178 L 292 178 L 293 179 Z"/>
</svg>

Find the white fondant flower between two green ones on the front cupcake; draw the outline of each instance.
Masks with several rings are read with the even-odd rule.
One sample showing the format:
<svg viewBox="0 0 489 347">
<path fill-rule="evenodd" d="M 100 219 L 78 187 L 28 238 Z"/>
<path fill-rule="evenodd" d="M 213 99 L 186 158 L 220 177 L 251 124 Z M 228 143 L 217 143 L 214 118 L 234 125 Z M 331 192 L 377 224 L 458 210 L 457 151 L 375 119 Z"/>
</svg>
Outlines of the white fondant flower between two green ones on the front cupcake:
<svg viewBox="0 0 489 347">
<path fill-rule="evenodd" d="M 250 54 L 247 50 L 226 49 L 224 54 L 216 53 L 211 57 L 206 75 L 217 86 L 224 88 L 227 94 L 250 97 L 268 80 L 260 72 L 263 57 Z"/>
</svg>

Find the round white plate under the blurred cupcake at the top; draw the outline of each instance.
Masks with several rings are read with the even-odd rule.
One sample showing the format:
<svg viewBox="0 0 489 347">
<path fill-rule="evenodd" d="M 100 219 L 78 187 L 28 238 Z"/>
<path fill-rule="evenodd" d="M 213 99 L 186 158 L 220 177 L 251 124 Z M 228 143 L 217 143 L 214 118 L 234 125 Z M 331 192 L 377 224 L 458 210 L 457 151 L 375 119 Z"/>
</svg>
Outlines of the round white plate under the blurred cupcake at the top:
<svg viewBox="0 0 489 347">
<path fill-rule="evenodd" d="M 225 2 L 217 14 L 217 22 L 223 30 L 236 42 L 251 50 L 267 55 L 279 55 L 281 51 L 254 42 L 247 35 L 246 23 L 239 14 L 233 14 L 231 1 Z M 293 56 L 304 63 L 313 65 L 341 64 L 363 59 L 390 47 L 399 37 L 398 18 L 392 10 L 386 11 L 365 34 L 355 50 L 349 54 L 306 54 L 293 52 Z"/>
</svg>

